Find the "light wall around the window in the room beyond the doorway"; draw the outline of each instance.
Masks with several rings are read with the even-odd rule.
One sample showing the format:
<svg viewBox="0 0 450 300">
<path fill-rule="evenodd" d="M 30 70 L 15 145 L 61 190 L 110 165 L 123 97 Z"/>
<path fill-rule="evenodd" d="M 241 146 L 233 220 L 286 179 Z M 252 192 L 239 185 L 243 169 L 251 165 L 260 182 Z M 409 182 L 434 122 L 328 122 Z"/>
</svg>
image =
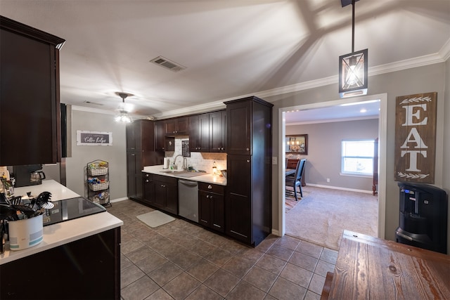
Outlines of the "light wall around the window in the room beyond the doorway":
<svg viewBox="0 0 450 300">
<path fill-rule="evenodd" d="M 308 155 L 305 165 L 307 184 L 327 185 L 372 192 L 373 178 L 340 175 L 342 140 L 378 137 L 378 119 L 319 124 L 286 125 L 286 135 L 308 134 Z M 326 181 L 330 178 L 330 182 Z"/>
</svg>

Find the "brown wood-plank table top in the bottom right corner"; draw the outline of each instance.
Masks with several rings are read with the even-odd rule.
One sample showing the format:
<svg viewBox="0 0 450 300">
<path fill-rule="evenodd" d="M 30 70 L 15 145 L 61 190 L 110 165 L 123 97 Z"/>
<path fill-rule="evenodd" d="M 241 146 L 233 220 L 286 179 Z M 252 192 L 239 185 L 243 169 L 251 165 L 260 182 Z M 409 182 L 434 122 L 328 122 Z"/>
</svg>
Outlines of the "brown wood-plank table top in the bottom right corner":
<svg viewBox="0 0 450 300">
<path fill-rule="evenodd" d="M 328 299 L 450 299 L 450 256 L 345 230 Z"/>
</svg>

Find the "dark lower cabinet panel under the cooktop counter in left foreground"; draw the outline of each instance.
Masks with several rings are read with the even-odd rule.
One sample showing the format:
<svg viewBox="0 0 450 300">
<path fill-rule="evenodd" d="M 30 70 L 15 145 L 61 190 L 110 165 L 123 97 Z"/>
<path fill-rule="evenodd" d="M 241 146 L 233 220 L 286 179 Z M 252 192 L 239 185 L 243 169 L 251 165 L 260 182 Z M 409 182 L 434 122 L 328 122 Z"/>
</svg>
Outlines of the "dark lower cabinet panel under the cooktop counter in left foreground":
<svg viewBox="0 0 450 300">
<path fill-rule="evenodd" d="M 0 265 L 0 299 L 120 299 L 120 227 Z"/>
</svg>

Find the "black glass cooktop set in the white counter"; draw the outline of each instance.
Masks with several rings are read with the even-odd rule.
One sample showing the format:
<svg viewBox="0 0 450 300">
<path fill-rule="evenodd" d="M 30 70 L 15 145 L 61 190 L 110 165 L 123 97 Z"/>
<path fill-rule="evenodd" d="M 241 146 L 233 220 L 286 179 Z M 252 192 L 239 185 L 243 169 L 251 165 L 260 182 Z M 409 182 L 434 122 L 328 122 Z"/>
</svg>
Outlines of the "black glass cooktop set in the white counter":
<svg viewBox="0 0 450 300">
<path fill-rule="evenodd" d="M 53 201 L 51 203 L 55 206 L 52 209 L 46 209 L 43 218 L 44 226 L 106 211 L 105 207 L 91 202 L 84 197 L 75 197 Z"/>
</svg>

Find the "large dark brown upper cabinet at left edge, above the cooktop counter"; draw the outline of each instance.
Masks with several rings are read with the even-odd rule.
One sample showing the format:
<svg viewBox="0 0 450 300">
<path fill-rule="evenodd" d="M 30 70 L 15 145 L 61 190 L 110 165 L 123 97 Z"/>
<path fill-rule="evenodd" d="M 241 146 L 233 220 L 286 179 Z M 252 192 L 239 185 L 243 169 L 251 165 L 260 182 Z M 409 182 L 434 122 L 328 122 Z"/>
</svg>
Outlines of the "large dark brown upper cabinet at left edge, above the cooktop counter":
<svg viewBox="0 0 450 300">
<path fill-rule="evenodd" d="M 59 49 L 65 40 L 0 16 L 0 165 L 61 160 Z"/>
</svg>

